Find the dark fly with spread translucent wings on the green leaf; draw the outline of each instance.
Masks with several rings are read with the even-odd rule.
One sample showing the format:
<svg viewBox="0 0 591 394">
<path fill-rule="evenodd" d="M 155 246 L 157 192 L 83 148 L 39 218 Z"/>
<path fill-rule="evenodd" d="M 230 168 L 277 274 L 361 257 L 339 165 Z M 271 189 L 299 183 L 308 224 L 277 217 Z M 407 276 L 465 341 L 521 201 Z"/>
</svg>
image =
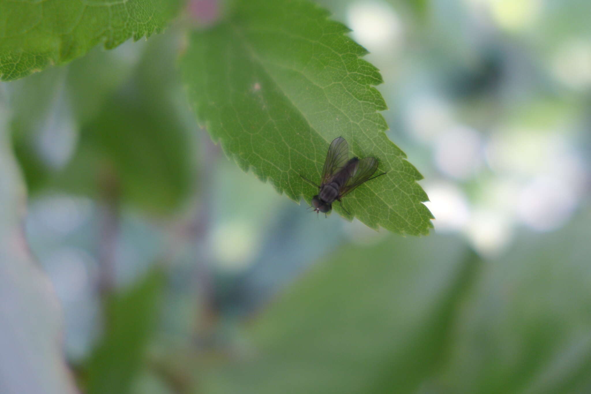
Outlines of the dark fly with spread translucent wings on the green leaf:
<svg viewBox="0 0 591 394">
<path fill-rule="evenodd" d="M 378 161 L 374 157 L 349 159 L 349 145 L 345 138 L 335 138 L 329 146 L 326 161 L 322 170 L 320 186 L 300 175 L 307 183 L 319 188 L 319 193 L 312 197 L 312 207 L 316 212 L 326 214 L 332 209 L 332 203 L 339 201 L 345 212 L 349 213 L 340 200 L 364 182 L 384 175 L 382 172 L 375 177 Z"/>
</svg>

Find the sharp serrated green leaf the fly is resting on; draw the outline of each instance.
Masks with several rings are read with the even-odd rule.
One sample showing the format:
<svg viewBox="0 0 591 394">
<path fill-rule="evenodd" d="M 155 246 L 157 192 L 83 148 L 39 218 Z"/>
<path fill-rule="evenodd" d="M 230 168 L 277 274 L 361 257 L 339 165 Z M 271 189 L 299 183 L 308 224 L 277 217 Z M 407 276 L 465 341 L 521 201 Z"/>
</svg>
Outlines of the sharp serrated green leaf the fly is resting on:
<svg viewBox="0 0 591 394">
<path fill-rule="evenodd" d="M 330 142 L 343 136 L 352 155 L 379 160 L 384 177 L 333 207 L 373 229 L 427 234 L 431 213 L 421 174 L 389 141 L 378 70 L 342 24 L 307 1 L 236 1 L 226 20 L 193 32 L 181 61 L 191 103 L 214 141 L 243 170 L 298 201 L 317 190 Z"/>
</svg>

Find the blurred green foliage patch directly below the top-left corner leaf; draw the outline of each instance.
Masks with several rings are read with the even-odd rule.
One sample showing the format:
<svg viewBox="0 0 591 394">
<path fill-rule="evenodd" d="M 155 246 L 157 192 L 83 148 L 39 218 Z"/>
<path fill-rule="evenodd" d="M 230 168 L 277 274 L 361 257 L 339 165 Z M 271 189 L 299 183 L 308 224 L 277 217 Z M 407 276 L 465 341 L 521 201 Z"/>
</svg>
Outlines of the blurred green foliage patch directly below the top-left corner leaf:
<svg viewBox="0 0 591 394">
<path fill-rule="evenodd" d="M 12 139 L 30 193 L 100 197 L 109 172 L 126 203 L 155 214 L 177 209 L 192 175 L 177 102 L 183 96 L 174 72 L 177 48 L 178 35 L 158 35 L 129 50 L 131 56 L 95 50 L 64 69 L 12 82 Z M 68 112 L 54 115 L 56 103 Z M 60 126 L 54 118 L 80 129 L 73 157 L 57 169 L 48 168 L 37 148 L 44 129 Z"/>
</svg>

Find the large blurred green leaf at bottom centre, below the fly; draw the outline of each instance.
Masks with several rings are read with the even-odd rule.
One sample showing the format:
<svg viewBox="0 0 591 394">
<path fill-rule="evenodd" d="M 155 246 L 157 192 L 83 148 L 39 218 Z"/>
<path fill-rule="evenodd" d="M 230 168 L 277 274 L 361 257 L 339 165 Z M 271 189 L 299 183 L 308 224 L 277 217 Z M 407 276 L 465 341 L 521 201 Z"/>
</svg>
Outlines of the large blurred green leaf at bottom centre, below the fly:
<svg viewBox="0 0 591 394">
<path fill-rule="evenodd" d="M 443 361 L 478 267 L 452 237 L 348 246 L 265 311 L 252 354 L 205 392 L 415 392 Z"/>
</svg>

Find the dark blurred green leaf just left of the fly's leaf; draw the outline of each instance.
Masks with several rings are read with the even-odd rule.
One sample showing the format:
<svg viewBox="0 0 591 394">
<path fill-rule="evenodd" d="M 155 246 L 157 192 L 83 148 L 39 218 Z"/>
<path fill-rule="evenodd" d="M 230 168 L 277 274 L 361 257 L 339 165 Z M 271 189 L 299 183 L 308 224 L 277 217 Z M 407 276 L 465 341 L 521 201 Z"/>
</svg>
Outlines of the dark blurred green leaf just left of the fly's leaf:
<svg viewBox="0 0 591 394">
<path fill-rule="evenodd" d="M 124 201 L 150 213 L 168 213 L 184 201 L 193 172 L 191 140 L 176 100 L 182 96 L 174 77 L 177 51 L 178 35 L 151 38 L 129 79 L 101 99 L 100 110 L 86 107 L 96 115 L 83 123 L 76 154 L 48 187 L 96 196 L 106 171 Z M 100 79 L 102 71 L 92 70 Z M 89 95 L 76 93 L 73 102 Z"/>
</svg>

